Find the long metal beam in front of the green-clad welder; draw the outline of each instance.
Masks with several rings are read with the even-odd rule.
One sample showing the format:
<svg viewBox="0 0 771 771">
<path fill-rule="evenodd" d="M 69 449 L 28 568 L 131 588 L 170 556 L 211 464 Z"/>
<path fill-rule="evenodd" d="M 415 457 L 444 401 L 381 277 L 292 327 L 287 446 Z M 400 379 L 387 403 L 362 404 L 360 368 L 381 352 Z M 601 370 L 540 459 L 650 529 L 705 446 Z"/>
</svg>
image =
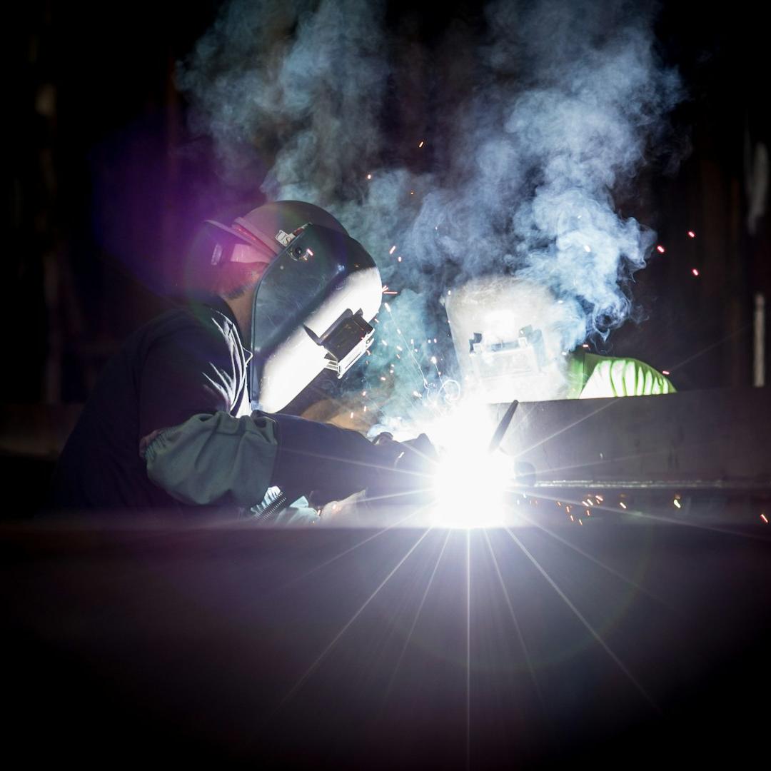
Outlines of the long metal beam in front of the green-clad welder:
<svg viewBox="0 0 771 771">
<path fill-rule="evenodd" d="M 510 406 L 493 408 L 497 421 Z M 771 490 L 769 389 L 524 402 L 500 441 L 537 487 Z"/>
</svg>

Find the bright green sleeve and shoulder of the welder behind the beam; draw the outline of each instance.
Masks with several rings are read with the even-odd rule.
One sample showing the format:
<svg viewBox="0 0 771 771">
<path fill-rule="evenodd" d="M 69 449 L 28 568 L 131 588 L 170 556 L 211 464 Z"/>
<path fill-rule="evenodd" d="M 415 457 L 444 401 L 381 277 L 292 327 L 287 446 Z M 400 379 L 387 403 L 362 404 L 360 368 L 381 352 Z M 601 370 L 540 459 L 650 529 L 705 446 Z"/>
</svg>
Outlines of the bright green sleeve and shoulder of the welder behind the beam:
<svg viewBox="0 0 771 771">
<path fill-rule="evenodd" d="M 607 399 L 612 396 L 653 396 L 674 393 L 675 386 L 645 362 L 594 353 L 568 358 L 567 399 Z"/>
</svg>

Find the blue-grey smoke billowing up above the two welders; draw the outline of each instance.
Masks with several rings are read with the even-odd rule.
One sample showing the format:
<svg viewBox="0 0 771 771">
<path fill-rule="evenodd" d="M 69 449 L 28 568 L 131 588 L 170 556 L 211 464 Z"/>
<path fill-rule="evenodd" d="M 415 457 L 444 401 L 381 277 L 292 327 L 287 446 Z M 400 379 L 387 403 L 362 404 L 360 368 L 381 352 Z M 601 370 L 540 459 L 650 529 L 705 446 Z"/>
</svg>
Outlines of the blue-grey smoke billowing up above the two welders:
<svg viewBox="0 0 771 771">
<path fill-rule="evenodd" d="M 614 195 L 662 146 L 681 86 L 638 4 L 497 0 L 480 24 L 448 23 L 417 49 L 387 12 L 233 0 L 179 82 L 228 183 L 332 211 L 399 292 L 384 297 L 380 342 L 346 382 L 372 396 L 388 385 L 390 411 L 403 414 L 410 399 L 454 394 L 440 301 L 469 278 L 516 274 L 550 288 L 561 317 L 574 308 L 564 349 L 629 317 L 655 234 L 622 216 Z M 426 72 L 427 136 L 404 136 L 389 113 L 406 57 Z M 410 160 L 403 149 L 422 141 L 423 160 Z"/>
</svg>

